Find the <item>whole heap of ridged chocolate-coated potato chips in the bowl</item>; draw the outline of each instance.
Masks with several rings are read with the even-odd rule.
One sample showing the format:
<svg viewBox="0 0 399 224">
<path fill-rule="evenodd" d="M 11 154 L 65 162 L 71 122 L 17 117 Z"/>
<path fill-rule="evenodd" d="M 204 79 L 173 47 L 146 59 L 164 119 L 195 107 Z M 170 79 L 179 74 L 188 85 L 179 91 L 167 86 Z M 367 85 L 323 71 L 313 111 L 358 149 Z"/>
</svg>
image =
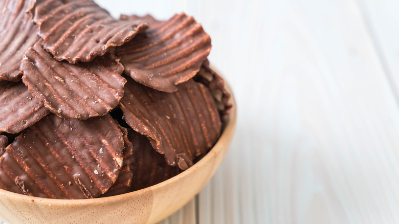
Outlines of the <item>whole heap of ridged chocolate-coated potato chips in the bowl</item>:
<svg viewBox="0 0 399 224">
<path fill-rule="evenodd" d="M 219 138 L 229 94 L 193 17 L 115 19 L 91 0 L 0 10 L 0 188 L 123 194 L 188 169 Z"/>
</svg>

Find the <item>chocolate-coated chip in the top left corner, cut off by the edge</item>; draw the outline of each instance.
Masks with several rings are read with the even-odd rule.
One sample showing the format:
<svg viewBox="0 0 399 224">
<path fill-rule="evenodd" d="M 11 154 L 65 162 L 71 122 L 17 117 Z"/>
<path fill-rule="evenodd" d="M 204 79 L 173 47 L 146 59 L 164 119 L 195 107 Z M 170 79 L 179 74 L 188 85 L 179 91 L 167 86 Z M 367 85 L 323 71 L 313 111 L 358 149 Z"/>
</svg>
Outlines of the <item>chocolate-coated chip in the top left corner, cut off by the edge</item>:
<svg viewBox="0 0 399 224">
<path fill-rule="evenodd" d="M 25 51 L 39 40 L 26 10 L 31 0 L 0 1 L 0 80 L 19 81 Z"/>
</svg>

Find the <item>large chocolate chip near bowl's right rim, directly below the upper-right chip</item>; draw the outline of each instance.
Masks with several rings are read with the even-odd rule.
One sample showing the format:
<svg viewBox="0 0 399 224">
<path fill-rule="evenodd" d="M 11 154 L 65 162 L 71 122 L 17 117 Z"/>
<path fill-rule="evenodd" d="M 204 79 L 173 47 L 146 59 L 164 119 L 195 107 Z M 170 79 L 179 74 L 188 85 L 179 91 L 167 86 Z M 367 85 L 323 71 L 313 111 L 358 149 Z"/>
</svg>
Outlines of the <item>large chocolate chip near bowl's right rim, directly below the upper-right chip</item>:
<svg viewBox="0 0 399 224">
<path fill-rule="evenodd" d="M 164 93 L 128 79 L 120 107 L 126 123 L 145 135 L 171 166 L 185 170 L 217 141 L 221 131 L 216 103 L 203 84 L 191 80 Z"/>
</svg>

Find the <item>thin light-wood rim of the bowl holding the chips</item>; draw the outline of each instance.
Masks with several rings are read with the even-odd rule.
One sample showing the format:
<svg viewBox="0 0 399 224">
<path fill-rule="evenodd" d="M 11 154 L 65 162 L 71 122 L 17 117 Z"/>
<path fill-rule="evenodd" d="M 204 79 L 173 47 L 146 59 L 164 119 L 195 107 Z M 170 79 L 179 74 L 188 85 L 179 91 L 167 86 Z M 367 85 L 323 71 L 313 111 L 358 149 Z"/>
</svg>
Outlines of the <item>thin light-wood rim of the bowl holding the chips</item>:
<svg viewBox="0 0 399 224">
<path fill-rule="evenodd" d="M 230 85 L 227 83 L 225 78 L 220 75 L 217 70 L 215 70 L 212 66 L 211 68 L 224 80 L 225 88 L 227 93 L 230 94 L 230 100 L 229 102 L 232 105 L 232 108 L 230 108 L 229 114 L 227 115 L 227 119 L 223 125 L 223 129 L 221 131 L 221 135 L 215 145 L 208 151 L 208 153 L 202 158 L 200 161 L 196 162 L 193 166 L 188 168 L 187 170 L 179 173 L 176 176 L 173 176 L 169 178 L 166 181 L 163 181 L 159 184 L 152 185 L 150 187 L 137 190 L 137 191 L 132 191 L 124 194 L 119 194 L 119 195 L 114 195 L 114 196 L 108 196 L 108 197 L 97 197 L 97 198 L 86 198 L 86 199 L 54 199 L 54 198 L 42 198 L 42 197 L 36 197 L 36 196 L 29 196 L 29 195 L 24 195 L 24 194 L 19 194 L 19 193 L 14 193 L 11 191 L 3 190 L 0 189 L 0 197 L 8 197 L 12 198 L 14 201 L 26 201 L 28 202 L 35 202 L 38 204 L 43 204 L 43 205 L 48 205 L 48 206 L 64 206 L 68 204 L 69 206 L 84 206 L 84 205 L 100 205 L 104 203 L 113 203 L 115 201 L 120 201 L 126 198 L 134 197 L 135 195 L 140 195 L 140 194 L 145 194 L 148 191 L 157 191 L 160 188 L 163 188 L 165 185 L 170 185 L 173 184 L 174 182 L 177 182 L 181 178 L 184 178 L 187 175 L 190 175 L 190 171 L 197 169 L 197 167 L 201 167 L 203 163 L 207 163 L 209 160 L 211 160 L 214 157 L 214 154 L 217 154 L 220 150 L 223 150 L 223 147 L 221 147 L 221 144 L 223 144 L 225 141 L 224 139 L 230 138 L 229 135 L 231 135 L 231 131 L 234 131 L 235 125 L 236 125 L 236 120 L 237 120 L 237 108 L 236 108 L 236 102 L 235 98 L 233 95 L 233 92 L 231 90 Z"/>
</svg>

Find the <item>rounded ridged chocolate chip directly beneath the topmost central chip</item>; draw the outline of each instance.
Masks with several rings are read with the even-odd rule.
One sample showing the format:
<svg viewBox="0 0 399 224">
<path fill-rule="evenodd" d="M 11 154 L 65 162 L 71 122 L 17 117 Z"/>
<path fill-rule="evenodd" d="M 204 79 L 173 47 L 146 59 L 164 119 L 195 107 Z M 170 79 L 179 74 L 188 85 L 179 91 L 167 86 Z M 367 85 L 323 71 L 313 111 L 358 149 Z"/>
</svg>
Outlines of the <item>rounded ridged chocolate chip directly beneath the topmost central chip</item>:
<svg viewBox="0 0 399 224">
<path fill-rule="evenodd" d="M 112 55 L 70 64 L 54 59 L 40 43 L 25 53 L 21 71 L 32 95 L 54 114 L 82 120 L 116 107 L 126 82 L 123 66 Z"/>
</svg>

